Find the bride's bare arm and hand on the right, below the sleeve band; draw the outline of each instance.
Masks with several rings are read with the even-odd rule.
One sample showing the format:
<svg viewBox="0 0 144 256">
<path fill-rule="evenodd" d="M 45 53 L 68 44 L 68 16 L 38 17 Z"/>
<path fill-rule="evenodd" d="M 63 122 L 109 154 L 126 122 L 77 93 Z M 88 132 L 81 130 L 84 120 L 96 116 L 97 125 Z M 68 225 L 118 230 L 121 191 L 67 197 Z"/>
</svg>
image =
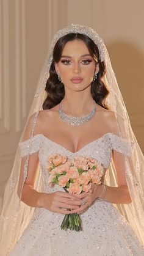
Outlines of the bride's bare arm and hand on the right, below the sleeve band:
<svg viewBox="0 0 144 256">
<path fill-rule="evenodd" d="M 112 186 L 106 186 L 106 194 L 103 198 L 103 200 L 110 202 L 110 203 L 120 203 L 120 204 L 128 204 L 131 203 L 131 197 L 129 195 L 128 191 L 128 186 L 126 183 L 126 177 L 124 174 L 124 155 L 122 153 L 116 152 L 113 150 L 113 163 L 115 164 L 115 169 L 117 172 L 117 187 L 112 187 Z M 83 213 L 89 207 L 92 202 L 97 199 L 98 197 L 102 197 L 104 192 L 104 185 L 96 185 L 94 184 L 92 186 L 92 189 L 88 192 L 83 192 L 82 194 L 79 195 L 74 195 L 78 199 L 81 199 L 81 204 L 82 204 L 82 199 L 85 198 L 87 201 L 87 204 L 81 205 L 79 209 L 71 211 L 71 213 Z"/>
</svg>

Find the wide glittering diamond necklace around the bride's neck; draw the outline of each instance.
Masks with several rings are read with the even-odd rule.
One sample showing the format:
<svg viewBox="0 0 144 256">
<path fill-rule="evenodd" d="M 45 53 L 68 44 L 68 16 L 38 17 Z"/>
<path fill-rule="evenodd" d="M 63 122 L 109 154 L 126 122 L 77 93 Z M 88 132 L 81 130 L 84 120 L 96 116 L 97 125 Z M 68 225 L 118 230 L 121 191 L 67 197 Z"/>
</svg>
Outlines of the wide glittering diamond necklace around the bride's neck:
<svg viewBox="0 0 144 256">
<path fill-rule="evenodd" d="M 63 112 L 62 101 L 60 102 L 60 105 L 59 105 L 59 115 L 61 119 L 64 122 L 70 123 L 70 125 L 73 125 L 73 126 L 82 125 L 83 123 L 88 122 L 90 119 L 94 117 L 95 112 L 96 112 L 96 107 L 94 107 L 90 113 L 83 115 L 82 117 L 72 117 L 70 115 L 65 114 L 65 112 Z"/>
</svg>

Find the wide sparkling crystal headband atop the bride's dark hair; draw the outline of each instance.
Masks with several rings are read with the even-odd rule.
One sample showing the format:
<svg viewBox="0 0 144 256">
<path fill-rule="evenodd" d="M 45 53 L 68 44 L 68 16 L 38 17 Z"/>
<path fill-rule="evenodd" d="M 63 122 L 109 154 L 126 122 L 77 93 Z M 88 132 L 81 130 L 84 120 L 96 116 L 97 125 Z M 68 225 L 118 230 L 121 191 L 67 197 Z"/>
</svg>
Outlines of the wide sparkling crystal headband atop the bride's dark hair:
<svg viewBox="0 0 144 256">
<path fill-rule="evenodd" d="M 96 46 L 99 49 L 99 54 L 101 61 L 103 62 L 105 59 L 105 49 L 104 49 L 104 41 L 99 35 L 94 31 L 91 27 L 79 25 L 79 24 L 71 24 L 70 26 L 64 27 L 63 29 L 57 31 L 56 35 L 54 35 L 51 46 L 49 49 L 49 59 L 48 59 L 48 68 L 50 69 L 52 58 L 53 58 L 53 50 L 54 46 L 56 45 L 56 42 L 59 40 L 59 38 L 63 37 L 63 35 L 67 35 L 69 33 L 80 33 L 87 35 L 90 37 L 93 42 L 96 44 Z"/>
</svg>

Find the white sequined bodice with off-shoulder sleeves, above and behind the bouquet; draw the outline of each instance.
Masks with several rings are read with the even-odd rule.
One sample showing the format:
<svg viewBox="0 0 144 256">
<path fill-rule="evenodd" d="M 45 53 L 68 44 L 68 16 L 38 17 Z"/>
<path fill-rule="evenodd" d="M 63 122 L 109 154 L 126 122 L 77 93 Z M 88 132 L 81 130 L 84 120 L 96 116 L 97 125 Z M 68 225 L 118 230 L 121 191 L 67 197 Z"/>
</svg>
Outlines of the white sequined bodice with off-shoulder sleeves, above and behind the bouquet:
<svg viewBox="0 0 144 256">
<path fill-rule="evenodd" d="M 36 134 L 27 141 L 20 142 L 21 156 L 31 155 L 38 152 L 40 166 L 42 170 L 43 183 L 45 188 L 48 188 L 46 180 L 48 180 L 48 156 L 51 154 L 62 154 L 68 156 L 68 158 L 74 158 L 74 156 L 92 156 L 99 163 L 101 163 L 105 169 L 110 164 L 112 158 L 112 150 L 123 153 L 124 155 L 131 155 L 131 144 L 123 137 L 117 136 L 113 133 L 106 133 L 98 139 L 89 142 L 77 152 L 70 152 L 67 148 L 54 141 L 48 139 L 43 134 Z M 25 174 L 27 176 L 27 174 Z"/>
</svg>

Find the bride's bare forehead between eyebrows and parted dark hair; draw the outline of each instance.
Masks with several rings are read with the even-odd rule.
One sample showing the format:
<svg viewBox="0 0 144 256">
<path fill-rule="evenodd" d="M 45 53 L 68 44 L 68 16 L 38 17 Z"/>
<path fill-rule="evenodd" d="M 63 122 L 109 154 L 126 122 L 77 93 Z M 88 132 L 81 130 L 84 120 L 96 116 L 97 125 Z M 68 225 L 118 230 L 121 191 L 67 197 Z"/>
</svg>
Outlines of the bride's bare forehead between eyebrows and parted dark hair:
<svg viewBox="0 0 144 256">
<path fill-rule="evenodd" d="M 63 55 L 70 54 L 71 56 L 73 56 L 76 53 L 81 55 L 89 53 L 87 45 L 85 45 L 84 41 L 76 39 L 73 41 L 69 41 L 65 44 L 62 51 Z"/>
</svg>

